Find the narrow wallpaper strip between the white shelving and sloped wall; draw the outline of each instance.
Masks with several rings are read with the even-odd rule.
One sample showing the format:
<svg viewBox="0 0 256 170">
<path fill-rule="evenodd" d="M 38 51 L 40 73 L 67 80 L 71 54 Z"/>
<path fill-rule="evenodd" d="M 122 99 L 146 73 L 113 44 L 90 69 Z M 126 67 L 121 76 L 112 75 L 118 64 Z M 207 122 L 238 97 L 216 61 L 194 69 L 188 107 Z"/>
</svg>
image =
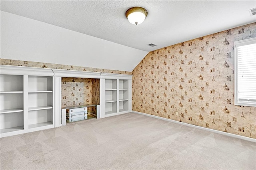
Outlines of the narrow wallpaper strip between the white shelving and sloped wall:
<svg viewBox="0 0 256 170">
<path fill-rule="evenodd" d="M 13 60 L 13 59 L 0 59 L 0 62 L 1 62 L 1 65 L 16 65 L 16 66 L 24 66 L 24 67 L 40 67 L 40 68 L 50 68 L 50 69 L 91 71 L 91 72 L 100 72 L 100 73 L 132 74 L 132 72 L 129 72 L 129 71 L 96 69 L 96 68 L 89 68 L 89 67 L 79 67 L 74 65 L 39 63 L 39 62 L 33 62 L 33 61 L 21 61 L 21 60 Z"/>
</svg>

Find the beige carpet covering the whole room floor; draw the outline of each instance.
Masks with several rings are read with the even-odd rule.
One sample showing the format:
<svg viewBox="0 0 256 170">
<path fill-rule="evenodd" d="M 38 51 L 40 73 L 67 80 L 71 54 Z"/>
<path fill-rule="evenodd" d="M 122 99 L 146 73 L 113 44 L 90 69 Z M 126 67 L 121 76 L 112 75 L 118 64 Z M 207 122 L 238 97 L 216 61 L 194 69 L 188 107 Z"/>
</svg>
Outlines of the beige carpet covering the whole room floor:
<svg viewBox="0 0 256 170">
<path fill-rule="evenodd" d="M 1 138 L 2 169 L 256 169 L 256 143 L 128 113 Z"/>
</svg>

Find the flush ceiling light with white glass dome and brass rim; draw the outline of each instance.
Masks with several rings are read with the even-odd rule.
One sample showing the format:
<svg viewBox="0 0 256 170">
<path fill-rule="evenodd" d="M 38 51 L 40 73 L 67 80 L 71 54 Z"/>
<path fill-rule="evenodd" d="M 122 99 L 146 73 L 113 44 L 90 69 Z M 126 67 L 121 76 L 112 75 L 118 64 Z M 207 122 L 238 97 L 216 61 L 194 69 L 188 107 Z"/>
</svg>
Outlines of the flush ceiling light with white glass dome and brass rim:
<svg viewBox="0 0 256 170">
<path fill-rule="evenodd" d="M 130 23 L 138 25 L 145 20 L 148 11 L 145 8 L 136 6 L 128 9 L 125 15 Z"/>
</svg>

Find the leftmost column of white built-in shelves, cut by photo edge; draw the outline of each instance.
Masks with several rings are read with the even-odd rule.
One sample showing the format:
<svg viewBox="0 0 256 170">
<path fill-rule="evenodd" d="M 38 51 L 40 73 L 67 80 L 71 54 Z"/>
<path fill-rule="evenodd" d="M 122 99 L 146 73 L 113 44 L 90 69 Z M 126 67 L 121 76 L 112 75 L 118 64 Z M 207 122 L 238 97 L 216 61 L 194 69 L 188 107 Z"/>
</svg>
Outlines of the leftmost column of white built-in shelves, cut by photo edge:
<svg viewBox="0 0 256 170">
<path fill-rule="evenodd" d="M 0 75 L 0 133 L 24 128 L 23 75 Z"/>
</svg>

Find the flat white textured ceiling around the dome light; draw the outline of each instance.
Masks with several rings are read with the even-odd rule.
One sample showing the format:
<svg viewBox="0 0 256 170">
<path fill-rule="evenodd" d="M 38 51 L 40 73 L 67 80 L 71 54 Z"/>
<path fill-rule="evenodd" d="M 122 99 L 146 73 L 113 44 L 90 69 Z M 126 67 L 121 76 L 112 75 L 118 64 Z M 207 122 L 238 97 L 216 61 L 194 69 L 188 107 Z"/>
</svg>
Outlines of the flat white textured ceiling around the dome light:
<svg viewBox="0 0 256 170">
<path fill-rule="evenodd" d="M 126 10 L 148 10 L 140 25 Z M 256 1 L 2 1 L 1 10 L 69 30 L 152 51 L 201 36 L 256 22 L 248 10 Z M 150 47 L 147 44 L 157 46 Z"/>
</svg>

